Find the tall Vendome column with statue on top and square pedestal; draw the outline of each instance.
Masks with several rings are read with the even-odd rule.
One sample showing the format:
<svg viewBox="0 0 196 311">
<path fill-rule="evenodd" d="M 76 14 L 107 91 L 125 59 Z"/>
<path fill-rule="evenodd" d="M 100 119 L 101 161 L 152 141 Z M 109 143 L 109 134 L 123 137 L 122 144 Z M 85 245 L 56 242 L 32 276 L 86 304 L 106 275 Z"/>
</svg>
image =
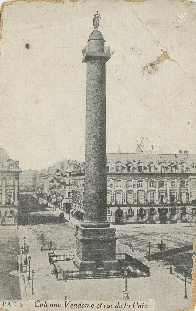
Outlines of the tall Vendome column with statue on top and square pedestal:
<svg viewBox="0 0 196 311">
<path fill-rule="evenodd" d="M 82 51 L 87 63 L 84 221 L 78 227 L 74 263 L 83 270 L 118 268 L 116 230 L 107 221 L 106 62 L 111 57 L 98 30 L 100 15 Z"/>
</svg>

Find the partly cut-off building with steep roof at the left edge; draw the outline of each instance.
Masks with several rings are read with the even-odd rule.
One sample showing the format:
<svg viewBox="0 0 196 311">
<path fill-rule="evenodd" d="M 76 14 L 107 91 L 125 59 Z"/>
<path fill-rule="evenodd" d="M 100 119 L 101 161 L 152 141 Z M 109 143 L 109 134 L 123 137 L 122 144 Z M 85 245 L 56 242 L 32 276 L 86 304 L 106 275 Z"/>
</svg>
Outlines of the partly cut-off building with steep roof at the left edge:
<svg viewBox="0 0 196 311">
<path fill-rule="evenodd" d="M 19 162 L 0 148 L 0 224 L 14 225 L 18 219 Z"/>
</svg>

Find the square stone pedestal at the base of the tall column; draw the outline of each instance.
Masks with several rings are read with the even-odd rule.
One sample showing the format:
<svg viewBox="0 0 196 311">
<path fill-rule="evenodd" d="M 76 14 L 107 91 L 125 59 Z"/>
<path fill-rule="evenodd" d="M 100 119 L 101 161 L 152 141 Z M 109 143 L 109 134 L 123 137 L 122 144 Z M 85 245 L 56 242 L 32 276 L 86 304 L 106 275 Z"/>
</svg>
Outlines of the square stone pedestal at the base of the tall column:
<svg viewBox="0 0 196 311">
<path fill-rule="evenodd" d="M 120 269 L 116 260 L 116 229 L 78 226 L 76 239 L 77 255 L 74 264 L 78 269 Z"/>
</svg>

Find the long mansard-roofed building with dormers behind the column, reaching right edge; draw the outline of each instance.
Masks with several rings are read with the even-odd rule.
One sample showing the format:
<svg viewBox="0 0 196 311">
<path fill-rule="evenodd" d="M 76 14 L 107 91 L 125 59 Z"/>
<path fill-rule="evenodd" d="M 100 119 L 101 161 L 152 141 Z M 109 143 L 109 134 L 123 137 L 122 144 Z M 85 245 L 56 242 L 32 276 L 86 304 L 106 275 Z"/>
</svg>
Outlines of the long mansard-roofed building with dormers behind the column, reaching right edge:
<svg viewBox="0 0 196 311">
<path fill-rule="evenodd" d="M 84 165 L 75 166 L 72 185 L 71 213 L 82 220 Z M 196 155 L 107 154 L 107 220 L 112 224 L 196 222 L 195 207 Z"/>
</svg>

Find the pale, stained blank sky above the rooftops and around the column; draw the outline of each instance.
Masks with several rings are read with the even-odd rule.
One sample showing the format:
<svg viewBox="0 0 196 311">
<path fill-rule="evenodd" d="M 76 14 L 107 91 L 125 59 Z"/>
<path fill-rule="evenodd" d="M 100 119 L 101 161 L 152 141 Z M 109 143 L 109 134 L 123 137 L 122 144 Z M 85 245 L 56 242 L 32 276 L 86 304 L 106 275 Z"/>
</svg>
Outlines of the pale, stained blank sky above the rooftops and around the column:
<svg viewBox="0 0 196 311">
<path fill-rule="evenodd" d="M 194 2 L 17 1 L 2 14 L 0 145 L 23 169 L 84 160 L 82 49 L 97 10 L 112 52 L 107 152 L 143 142 L 144 152 L 196 153 Z"/>
</svg>

